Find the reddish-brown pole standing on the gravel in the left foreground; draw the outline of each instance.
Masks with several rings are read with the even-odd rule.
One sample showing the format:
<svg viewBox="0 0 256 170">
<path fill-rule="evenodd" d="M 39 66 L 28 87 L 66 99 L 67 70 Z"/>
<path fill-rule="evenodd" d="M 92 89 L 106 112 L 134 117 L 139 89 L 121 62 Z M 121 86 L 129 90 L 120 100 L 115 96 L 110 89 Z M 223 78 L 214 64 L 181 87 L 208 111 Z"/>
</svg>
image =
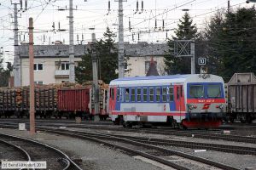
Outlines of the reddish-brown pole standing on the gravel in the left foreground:
<svg viewBox="0 0 256 170">
<path fill-rule="evenodd" d="M 29 120 L 30 134 L 35 134 L 35 84 L 34 84 L 34 49 L 33 49 L 33 19 L 29 18 L 29 81 L 30 81 L 30 96 L 29 96 Z"/>
</svg>

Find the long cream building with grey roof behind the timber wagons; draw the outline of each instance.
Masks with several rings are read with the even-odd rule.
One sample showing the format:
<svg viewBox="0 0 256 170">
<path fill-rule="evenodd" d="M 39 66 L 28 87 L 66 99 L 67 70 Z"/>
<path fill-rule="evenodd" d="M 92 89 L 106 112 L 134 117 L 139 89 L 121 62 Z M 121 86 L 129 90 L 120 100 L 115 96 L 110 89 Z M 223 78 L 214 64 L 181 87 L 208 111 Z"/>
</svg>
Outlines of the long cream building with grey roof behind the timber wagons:
<svg viewBox="0 0 256 170">
<path fill-rule="evenodd" d="M 20 45 L 21 85 L 29 85 L 28 45 Z M 85 45 L 75 45 L 75 63 L 86 53 Z M 34 80 L 39 84 L 60 83 L 68 81 L 69 55 L 68 45 L 36 45 L 34 46 Z M 127 68 L 125 77 L 145 76 L 150 60 L 153 57 L 160 75 L 165 75 L 164 55 L 167 44 L 125 43 Z"/>
</svg>

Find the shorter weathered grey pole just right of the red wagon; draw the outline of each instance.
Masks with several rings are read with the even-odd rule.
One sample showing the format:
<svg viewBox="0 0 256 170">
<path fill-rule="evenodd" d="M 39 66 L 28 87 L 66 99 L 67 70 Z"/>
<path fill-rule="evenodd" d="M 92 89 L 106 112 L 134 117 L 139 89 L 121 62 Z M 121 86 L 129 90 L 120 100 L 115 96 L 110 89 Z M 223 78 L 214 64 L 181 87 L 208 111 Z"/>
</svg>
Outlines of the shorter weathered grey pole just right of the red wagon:
<svg viewBox="0 0 256 170">
<path fill-rule="evenodd" d="M 94 96 L 94 121 L 99 121 L 99 84 L 98 84 L 98 65 L 96 54 L 96 35 L 91 34 L 91 60 L 92 60 L 92 77 L 93 77 L 93 96 Z"/>
</svg>

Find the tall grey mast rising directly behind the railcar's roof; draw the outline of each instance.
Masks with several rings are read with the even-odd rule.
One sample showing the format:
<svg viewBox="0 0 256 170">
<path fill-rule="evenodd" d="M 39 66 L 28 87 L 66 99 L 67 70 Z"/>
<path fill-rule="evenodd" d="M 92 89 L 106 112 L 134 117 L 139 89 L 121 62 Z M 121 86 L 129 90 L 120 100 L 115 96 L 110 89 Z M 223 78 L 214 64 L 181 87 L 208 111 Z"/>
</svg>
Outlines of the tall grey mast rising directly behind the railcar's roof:
<svg viewBox="0 0 256 170">
<path fill-rule="evenodd" d="M 124 48 L 124 21 L 123 1 L 119 1 L 119 78 L 125 77 L 125 48 Z M 126 1 L 125 1 L 126 2 Z"/>
</svg>

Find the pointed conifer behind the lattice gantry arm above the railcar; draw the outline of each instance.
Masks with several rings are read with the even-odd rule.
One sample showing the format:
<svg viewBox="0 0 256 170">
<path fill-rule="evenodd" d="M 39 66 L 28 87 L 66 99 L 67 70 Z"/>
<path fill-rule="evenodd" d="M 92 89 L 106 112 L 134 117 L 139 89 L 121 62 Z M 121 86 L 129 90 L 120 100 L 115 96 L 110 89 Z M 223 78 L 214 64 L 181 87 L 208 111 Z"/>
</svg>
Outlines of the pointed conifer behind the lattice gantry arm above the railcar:
<svg viewBox="0 0 256 170">
<path fill-rule="evenodd" d="M 191 71 L 191 59 L 190 58 L 177 58 L 173 55 L 174 40 L 190 40 L 197 39 L 197 28 L 193 24 L 193 20 L 188 13 L 183 15 L 183 18 L 179 20 L 177 29 L 174 31 L 175 37 L 172 37 L 167 43 L 169 48 L 169 54 L 165 57 L 166 72 L 168 74 L 189 74 Z"/>
</svg>

